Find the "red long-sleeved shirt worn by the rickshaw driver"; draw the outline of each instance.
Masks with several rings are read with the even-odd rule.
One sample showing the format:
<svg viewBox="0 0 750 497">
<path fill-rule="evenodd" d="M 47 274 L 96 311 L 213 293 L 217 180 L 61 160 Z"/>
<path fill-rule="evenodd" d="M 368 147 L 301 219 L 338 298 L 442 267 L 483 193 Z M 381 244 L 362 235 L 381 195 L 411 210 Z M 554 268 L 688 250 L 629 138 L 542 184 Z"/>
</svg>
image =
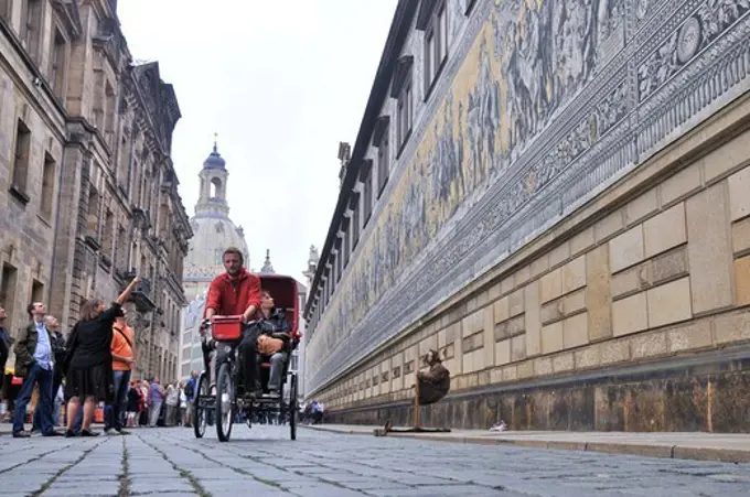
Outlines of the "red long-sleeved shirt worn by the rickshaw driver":
<svg viewBox="0 0 750 497">
<path fill-rule="evenodd" d="M 260 279 L 246 269 L 243 268 L 236 277 L 225 272 L 211 282 L 206 311 L 213 309 L 219 316 L 237 316 L 250 305 L 260 307 Z"/>
</svg>

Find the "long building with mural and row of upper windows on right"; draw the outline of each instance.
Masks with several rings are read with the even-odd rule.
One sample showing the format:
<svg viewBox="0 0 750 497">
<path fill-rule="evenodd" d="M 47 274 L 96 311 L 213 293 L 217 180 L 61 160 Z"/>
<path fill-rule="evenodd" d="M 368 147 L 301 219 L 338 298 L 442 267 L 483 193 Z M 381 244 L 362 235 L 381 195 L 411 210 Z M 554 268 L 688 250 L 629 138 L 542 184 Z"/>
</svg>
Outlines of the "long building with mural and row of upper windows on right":
<svg viewBox="0 0 750 497">
<path fill-rule="evenodd" d="M 750 7 L 399 1 L 307 306 L 338 422 L 750 431 Z"/>
</svg>

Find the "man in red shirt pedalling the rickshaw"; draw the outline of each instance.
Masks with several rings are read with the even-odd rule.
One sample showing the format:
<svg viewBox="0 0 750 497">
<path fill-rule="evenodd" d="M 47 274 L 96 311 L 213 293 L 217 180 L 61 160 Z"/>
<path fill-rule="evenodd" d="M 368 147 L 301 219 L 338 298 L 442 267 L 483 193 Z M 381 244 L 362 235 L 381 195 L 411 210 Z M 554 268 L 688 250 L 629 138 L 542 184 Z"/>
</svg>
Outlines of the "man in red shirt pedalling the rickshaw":
<svg viewBox="0 0 750 497">
<path fill-rule="evenodd" d="M 245 263 L 243 252 L 235 247 L 224 250 L 222 261 L 226 272 L 211 282 L 204 317 L 211 320 L 214 315 L 237 316 L 242 314 L 243 321 L 247 323 L 260 307 L 260 279 L 243 267 Z M 246 329 L 239 344 L 239 355 L 245 391 L 259 395 L 262 389 L 256 364 L 256 334 Z"/>
</svg>

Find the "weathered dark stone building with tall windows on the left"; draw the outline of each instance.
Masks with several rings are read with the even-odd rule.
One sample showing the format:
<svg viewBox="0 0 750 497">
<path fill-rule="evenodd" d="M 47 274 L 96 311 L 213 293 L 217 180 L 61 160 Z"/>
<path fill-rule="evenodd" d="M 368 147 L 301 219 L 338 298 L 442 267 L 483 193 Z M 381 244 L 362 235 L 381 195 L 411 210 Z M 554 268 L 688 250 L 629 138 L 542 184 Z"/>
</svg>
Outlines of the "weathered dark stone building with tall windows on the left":
<svg viewBox="0 0 750 497">
<path fill-rule="evenodd" d="M 69 328 L 138 274 L 136 377 L 174 378 L 192 236 L 170 158 L 180 108 L 133 65 L 115 1 L 0 1 L 0 302 Z"/>
</svg>

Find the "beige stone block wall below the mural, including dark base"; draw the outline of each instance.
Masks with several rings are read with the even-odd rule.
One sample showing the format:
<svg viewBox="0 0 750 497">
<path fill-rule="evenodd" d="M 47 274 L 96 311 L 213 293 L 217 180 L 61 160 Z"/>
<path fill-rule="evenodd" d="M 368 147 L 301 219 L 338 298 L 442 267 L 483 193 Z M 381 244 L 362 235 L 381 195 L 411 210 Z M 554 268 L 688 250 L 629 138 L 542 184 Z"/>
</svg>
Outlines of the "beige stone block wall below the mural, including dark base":
<svg viewBox="0 0 750 497">
<path fill-rule="evenodd" d="M 332 420 L 409 423 L 397 369 L 441 348 L 428 423 L 750 431 L 748 118 L 750 97 L 431 313 L 319 396 Z"/>
</svg>

